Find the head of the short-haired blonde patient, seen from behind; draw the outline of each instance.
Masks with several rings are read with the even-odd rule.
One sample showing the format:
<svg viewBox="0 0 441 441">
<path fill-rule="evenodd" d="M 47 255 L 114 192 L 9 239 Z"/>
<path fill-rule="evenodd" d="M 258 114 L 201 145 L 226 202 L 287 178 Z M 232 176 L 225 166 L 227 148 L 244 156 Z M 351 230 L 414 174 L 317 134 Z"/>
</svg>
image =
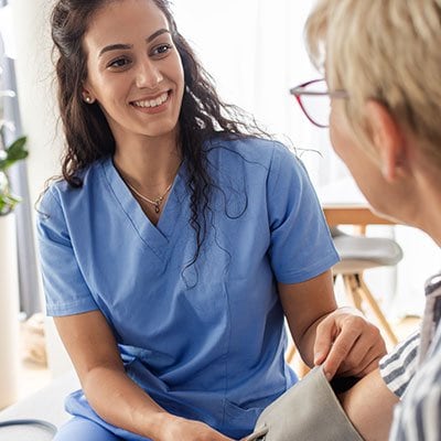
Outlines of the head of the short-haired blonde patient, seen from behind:
<svg viewBox="0 0 441 441">
<path fill-rule="evenodd" d="M 441 174 L 441 0 L 320 0 L 305 36 L 334 149 L 375 208 L 422 226 L 417 174 Z"/>
</svg>

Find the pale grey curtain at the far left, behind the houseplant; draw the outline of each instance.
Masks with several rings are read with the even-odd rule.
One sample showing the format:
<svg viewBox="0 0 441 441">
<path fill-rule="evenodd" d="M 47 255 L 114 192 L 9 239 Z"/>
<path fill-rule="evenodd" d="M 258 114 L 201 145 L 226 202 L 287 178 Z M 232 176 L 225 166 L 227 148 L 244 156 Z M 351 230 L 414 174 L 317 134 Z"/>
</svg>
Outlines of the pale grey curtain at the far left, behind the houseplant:
<svg viewBox="0 0 441 441">
<path fill-rule="evenodd" d="M 10 24 L 10 7 L 8 7 L 6 0 L 2 0 L 2 3 L 0 3 L 0 63 L 2 67 L 2 87 L 15 92 L 15 97 L 6 98 L 3 100 L 3 118 L 11 122 L 3 131 L 7 146 L 23 135 L 18 101 L 14 61 L 12 60 L 13 42 L 9 28 Z M 21 161 L 15 164 L 11 169 L 9 175 L 13 192 L 22 197 L 22 202 L 14 211 L 19 252 L 20 310 L 26 316 L 30 316 L 41 311 L 42 305 L 36 271 L 33 222 L 31 216 L 32 204 L 29 193 L 26 162 Z"/>
</svg>

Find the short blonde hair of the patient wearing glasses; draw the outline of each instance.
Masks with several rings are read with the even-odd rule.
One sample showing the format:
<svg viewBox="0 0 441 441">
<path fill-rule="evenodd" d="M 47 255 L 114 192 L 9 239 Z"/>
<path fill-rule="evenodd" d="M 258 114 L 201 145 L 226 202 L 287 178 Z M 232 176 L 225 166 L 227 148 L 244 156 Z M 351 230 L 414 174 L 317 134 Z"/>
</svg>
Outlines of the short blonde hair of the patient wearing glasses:
<svg viewBox="0 0 441 441">
<path fill-rule="evenodd" d="M 441 0 L 320 0 L 305 36 L 330 89 L 347 90 L 355 132 L 377 99 L 441 163 Z"/>
</svg>

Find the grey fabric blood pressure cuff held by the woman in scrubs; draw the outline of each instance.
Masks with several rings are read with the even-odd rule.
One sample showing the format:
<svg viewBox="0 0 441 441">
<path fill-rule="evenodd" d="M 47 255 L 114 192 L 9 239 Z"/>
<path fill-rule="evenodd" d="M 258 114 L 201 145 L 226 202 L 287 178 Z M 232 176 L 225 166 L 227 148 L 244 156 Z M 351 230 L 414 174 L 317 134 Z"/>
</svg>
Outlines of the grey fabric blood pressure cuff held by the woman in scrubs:
<svg viewBox="0 0 441 441">
<path fill-rule="evenodd" d="M 247 441 L 363 441 L 340 405 L 322 367 L 260 415 Z"/>
</svg>

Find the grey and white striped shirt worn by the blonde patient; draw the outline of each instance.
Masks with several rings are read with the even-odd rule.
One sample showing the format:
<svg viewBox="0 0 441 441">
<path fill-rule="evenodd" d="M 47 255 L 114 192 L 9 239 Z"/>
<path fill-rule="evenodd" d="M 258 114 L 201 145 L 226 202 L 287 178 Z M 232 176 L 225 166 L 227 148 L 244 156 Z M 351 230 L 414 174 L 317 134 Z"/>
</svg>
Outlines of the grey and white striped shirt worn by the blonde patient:
<svg viewBox="0 0 441 441">
<path fill-rule="evenodd" d="M 395 351 L 401 354 L 396 361 L 404 362 L 401 375 L 398 365 L 392 368 L 394 354 L 383 363 L 385 381 L 397 395 L 402 396 L 402 401 L 395 408 L 389 440 L 441 441 L 440 319 L 441 275 L 437 275 L 426 284 L 426 311 L 420 338 L 413 335 L 404 343 L 401 349 Z M 413 352 L 415 345 L 419 346 L 418 358 Z"/>
</svg>

